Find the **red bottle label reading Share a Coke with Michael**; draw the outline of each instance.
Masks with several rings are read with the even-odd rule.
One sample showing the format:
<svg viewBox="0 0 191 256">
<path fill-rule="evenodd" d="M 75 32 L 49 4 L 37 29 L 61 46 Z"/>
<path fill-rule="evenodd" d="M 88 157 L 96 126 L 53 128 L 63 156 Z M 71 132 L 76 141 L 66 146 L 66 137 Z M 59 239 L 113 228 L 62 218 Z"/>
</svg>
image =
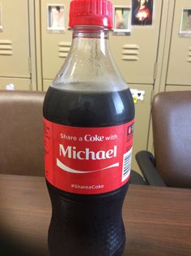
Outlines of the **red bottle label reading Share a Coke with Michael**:
<svg viewBox="0 0 191 256">
<path fill-rule="evenodd" d="M 44 124 L 45 176 L 57 189 L 106 193 L 129 180 L 134 120 L 102 128 Z"/>
</svg>

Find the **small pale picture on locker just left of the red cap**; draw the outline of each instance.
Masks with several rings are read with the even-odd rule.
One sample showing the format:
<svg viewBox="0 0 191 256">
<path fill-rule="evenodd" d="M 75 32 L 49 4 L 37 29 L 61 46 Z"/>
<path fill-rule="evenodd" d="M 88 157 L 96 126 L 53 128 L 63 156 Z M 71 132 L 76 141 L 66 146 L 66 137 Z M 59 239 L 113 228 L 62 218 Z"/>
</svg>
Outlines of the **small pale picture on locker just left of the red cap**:
<svg viewBox="0 0 191 256">
<path fill-rule="evenodd" d="M 48 30 L 52 32 L 65 31 L 65 6 L 48 4 Z"/>
</svg>

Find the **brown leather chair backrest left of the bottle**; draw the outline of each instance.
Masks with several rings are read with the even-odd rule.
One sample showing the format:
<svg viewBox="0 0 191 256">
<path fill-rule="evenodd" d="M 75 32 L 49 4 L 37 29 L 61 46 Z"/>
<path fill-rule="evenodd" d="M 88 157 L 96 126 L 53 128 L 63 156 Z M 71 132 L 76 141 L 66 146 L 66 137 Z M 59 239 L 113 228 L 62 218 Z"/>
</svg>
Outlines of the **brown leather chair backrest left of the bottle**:
<svg viewBox="0 0 191 256">
<path fill-rule="evenodd" d="M 0 91 L 0 173 L 44 176 L 43 92 Z"/>
</svg>

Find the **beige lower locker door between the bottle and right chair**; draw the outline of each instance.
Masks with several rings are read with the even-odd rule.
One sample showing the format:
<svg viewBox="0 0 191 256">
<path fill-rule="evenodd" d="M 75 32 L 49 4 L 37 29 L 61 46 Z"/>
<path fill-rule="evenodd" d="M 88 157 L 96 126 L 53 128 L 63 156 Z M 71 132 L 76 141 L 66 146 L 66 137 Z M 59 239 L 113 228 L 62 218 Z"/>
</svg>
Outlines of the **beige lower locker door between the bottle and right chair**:
<svg viewBox="0 0 191 256">
<path fill-rule="evenodd" d="M 139 171 L 138 164 L 135 160 L 135 154 L 140 150 L 146 150 L 148 132 L 151 118 L 151 97 L 152 85 L 129 85 L 130 89 L 143 91 L 145 94 L 142 100 L 135 104 L 135 121 L 134 121 L 134 148 L 132 156 L 132 169 Z"/>
</svg>

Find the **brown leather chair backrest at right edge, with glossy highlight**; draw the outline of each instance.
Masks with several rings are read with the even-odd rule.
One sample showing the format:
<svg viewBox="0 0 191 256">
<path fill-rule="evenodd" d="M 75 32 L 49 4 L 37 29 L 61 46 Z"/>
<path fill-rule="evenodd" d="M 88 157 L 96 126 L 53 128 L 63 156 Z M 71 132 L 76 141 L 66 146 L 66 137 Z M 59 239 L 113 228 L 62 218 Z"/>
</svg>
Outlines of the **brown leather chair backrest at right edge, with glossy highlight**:
<svg viewBox="0 0 191 256">
<path fill-rule="evenodd" d="M 191 188 L 191 91 L 158 93 L 152 124 L 160 176 L 168 186 Z"/>
</svg>

